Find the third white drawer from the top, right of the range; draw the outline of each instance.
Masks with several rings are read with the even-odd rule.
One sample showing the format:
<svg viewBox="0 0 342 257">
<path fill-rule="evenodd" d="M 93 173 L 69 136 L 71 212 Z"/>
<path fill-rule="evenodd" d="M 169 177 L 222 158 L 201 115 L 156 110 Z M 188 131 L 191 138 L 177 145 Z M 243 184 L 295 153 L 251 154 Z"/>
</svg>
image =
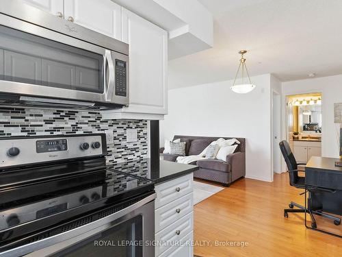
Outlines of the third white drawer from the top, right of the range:
<svg viewBox="0 0 342 257">
<path fill-rule="evenodd" d="M 155 240 L 161 245 L 155 247 L 155 254 L 159 256 L 172 246 L 174 241 L 179 241 L 184 235 L 194 230 L 194 212 L 190 212 L 178 221 L 155 234 Z"/>
</svg>

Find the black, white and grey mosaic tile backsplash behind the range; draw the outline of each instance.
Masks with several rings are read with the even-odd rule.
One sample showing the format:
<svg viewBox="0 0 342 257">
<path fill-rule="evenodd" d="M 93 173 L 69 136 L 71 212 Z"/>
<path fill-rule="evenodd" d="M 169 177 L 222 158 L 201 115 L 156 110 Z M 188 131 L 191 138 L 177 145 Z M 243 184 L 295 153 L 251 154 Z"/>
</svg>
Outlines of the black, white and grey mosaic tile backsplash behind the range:
<svg viewBox="0 0 342 257">
<path fill-rule="evenodd" d="M 137 142 L 126 142 L 126 130 L 137 129 Z M 0 136 L 114 132 L 107 145 L 107 163 L 147 158 L 148 129 L 144 120 L 103 120 L 100 112 L 0 106 Z"/>
</svg>

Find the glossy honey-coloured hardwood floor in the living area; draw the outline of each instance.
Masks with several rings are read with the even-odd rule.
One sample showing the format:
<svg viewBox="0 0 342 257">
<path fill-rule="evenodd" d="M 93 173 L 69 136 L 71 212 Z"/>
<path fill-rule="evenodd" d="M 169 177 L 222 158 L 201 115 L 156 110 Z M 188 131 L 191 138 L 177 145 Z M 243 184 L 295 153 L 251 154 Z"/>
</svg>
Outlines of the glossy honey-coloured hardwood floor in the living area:
<svg viewBox="0 0 342 257">
<path fill-rule="evenodd" d="M 194 207 L 197 256 L 342 256 L 342 239 L 304 226 L 304 214 L 283 216 L 290 201 L 304 205 L 302 190 L 289 186 L 287 173 L 274 182 L 244 179 Z M 342 226 L 342 225 L 341 225 Z M 342 227 L 341 227 L 342 228 Z M 215 241 L 248 242 L 245 247 Z"/>
</svg>

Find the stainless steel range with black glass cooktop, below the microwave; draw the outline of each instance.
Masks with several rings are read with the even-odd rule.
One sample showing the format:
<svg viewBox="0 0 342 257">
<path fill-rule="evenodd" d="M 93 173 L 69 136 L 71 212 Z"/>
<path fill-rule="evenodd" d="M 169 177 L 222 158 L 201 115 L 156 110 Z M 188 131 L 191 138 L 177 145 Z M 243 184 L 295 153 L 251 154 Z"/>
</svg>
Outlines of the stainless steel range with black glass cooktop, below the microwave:
<svg viewBox="0 0 342 257">
<path fill-rule="evenodd" d="M 154 256 L 153 182 L 107 167 L 105 134 L 0 145 L 0 256 Z"/>
</svg>

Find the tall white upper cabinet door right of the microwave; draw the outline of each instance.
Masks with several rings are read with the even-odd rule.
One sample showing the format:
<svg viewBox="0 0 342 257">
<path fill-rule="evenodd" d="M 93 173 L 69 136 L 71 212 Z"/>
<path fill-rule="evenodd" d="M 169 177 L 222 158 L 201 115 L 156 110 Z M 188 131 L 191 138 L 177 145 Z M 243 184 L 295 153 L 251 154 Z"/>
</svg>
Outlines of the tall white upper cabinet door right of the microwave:
<svg viewBox="0 0 342 257">
<path fill-rule="evenodd" d="M 167 114 L 168 33 L 122 8 L 122 41 L 129 44 L 129 107 L 123 111 Z"/>
</svg>

